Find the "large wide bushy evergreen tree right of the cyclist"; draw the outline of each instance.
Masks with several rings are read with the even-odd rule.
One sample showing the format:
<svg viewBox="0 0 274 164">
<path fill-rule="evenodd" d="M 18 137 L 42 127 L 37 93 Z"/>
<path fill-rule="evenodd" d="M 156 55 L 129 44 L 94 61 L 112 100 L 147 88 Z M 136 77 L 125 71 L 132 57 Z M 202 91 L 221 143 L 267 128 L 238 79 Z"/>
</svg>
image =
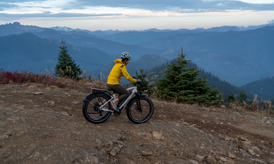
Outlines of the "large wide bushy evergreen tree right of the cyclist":
<svg viewBox="0 0 274 164">
<path fill-rule="evenodd" d="M 164 71 L 164 78 L 158 78 L 156 85 L 164 99 L 176 99 L 187 104 L 219 105 L 222 101 L 220 91 L 207 85 L 205 76 L 199 77 L 197 67 L 186 68 L 190 60 L 186 54 L 178 53 L 176 63 L 171 62 Z"/>
</svg>

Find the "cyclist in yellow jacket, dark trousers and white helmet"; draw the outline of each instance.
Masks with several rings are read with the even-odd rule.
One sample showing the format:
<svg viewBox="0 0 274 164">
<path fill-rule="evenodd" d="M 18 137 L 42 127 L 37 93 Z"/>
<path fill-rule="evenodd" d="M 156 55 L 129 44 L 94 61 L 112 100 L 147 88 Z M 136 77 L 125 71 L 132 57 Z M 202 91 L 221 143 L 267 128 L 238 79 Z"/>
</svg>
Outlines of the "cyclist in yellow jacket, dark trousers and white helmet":
<svg viewBox="0 0 274 164">
<path fill-rule="evenodd" d="M 116 64 L 113 66 L 108 77 L 107 86 L 119 94 L 118 98 L 111 101 L 111 105 L 114 108 L 114 110 L 117 110 L 117 102 L 126 99 L 130 95 L 128 90 L 124 88 L 122 85 L 120 85 L 121 76 L 124 76 L 127 80 L 132 81 L 134 83 L 142 83 L 141 80 L 136 80 L 127 73 L 125 65 L 128 64 L 130 59 L 130 54 L 127 52 L 123 52 L 121 55 L 121 59 L 114 60 Z"/>
</svg>

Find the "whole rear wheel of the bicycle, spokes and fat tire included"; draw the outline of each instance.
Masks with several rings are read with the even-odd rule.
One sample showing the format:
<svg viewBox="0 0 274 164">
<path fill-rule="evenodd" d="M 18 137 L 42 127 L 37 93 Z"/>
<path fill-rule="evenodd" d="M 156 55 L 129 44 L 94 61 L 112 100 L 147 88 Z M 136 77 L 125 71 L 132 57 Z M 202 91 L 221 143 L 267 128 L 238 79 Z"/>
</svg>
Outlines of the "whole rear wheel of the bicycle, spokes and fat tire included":
<svg viewBox="0 0 274 164">
<path fill-rule="evenodd" d="M 96 93 L 90 96 L 83 104 L 83 115 L 89 122 L 100 124 L 106 121 L 112 112 L 100 110 L 99 108 L 110 100 L 109 95 L 105 93 Z M 111 104 L 108 102 L 102 108 L 111 110 Z"/>
</svg>

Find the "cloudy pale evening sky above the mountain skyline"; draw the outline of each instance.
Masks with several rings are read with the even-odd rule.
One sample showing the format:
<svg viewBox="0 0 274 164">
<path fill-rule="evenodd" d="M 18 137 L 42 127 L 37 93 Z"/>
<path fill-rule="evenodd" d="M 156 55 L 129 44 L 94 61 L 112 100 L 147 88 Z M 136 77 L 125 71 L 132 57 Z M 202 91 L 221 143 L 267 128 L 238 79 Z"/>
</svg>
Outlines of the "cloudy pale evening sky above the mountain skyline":
<svg viewBox="0 0 274 164">
<path fill-rule="evenodd" d="M 0 0 L 0 24 L 95 30 L 274 23 L 274 0 Z"/>
</svg>

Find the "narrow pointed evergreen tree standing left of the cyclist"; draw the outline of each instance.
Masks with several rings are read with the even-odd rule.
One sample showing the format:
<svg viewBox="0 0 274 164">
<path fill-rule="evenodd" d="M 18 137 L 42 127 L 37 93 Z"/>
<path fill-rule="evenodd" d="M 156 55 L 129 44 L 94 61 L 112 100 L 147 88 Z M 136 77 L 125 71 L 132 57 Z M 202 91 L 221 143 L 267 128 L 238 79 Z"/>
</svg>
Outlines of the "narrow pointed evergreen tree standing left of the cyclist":
<svg viewBox="0 0 274 164">
<path fill-rule="evenodd" d="M 67 76 L 71 78 L 78 78 L 79 75 L 83 73 L 80 65 L 76 65 L 75 61 L 72 59 L 70 54 L 68 54 L 67 46 L 64 45 L 65 42 L 62 40 L 61 46 L 59 47 L 58 62 L 55 66 L 55 76 Z"/>
</svg>

